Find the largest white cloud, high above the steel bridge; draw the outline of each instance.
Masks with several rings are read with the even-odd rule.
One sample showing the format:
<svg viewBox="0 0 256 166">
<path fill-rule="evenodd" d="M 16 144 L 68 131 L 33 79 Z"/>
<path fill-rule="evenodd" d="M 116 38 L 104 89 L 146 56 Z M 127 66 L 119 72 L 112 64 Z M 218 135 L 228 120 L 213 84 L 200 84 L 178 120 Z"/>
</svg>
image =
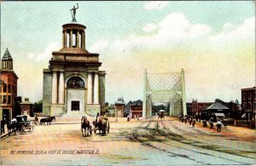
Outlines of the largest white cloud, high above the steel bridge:
<svg viewBox="0 0 256 166">
<path fill-rule="evenodd" d="M 143 27 L 144 31 L 157 31 L 153 35 L 137 36 L 131 34 L 130 37 L 122 41 L 113 43 L 114 48 L 121 51 L 137 51 L 139 49 L 160 49 L 175 45 L 181 42 L 198 40 L 199 37 L 208 34 L 211 27 L 203 24 L 192 24 L 186 19 L 184 14 L 172 13 L 160 21 L 159 24 L 151 23 Z"/>
</svg>

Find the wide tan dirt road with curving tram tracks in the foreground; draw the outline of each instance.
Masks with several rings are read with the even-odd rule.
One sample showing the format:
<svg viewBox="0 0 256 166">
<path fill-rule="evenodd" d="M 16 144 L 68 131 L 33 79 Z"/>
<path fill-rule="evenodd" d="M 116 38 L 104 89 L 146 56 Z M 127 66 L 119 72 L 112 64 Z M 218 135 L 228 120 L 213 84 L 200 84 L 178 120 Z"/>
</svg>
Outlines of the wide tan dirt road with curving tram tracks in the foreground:
<svg viewBox="0 0 256 166">
<path fill-rule="evenodd" d="M 79 122 L 79 118 L 77 118 Z M 58 117 L 56 119 L 58 121 Z M 156 165 L 256 163 L 254 130 L 217 133 L 166 118 L 110 123 L 105 136 L 83 137 L 79 123 L 36 126 L 32 133 L 1 141 L 2 165 Z"/>
</svg>

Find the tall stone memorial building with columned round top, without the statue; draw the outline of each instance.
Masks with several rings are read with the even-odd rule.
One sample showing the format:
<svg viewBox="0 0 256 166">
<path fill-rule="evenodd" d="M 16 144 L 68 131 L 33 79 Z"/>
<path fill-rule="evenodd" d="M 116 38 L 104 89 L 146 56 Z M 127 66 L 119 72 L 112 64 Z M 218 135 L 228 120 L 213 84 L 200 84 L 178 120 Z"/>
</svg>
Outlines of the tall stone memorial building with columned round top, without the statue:
<svg viewBox="0 0 256 166">
<path fill-rule="evenodd" d="M 62 49 L 52 52 L 44 69 L 44 115 L 105 112 L 106 72 L 99 71 L 99 54 L 85 49 L 85 29 L 77 22 L 62 26 Z"/>
</svg>

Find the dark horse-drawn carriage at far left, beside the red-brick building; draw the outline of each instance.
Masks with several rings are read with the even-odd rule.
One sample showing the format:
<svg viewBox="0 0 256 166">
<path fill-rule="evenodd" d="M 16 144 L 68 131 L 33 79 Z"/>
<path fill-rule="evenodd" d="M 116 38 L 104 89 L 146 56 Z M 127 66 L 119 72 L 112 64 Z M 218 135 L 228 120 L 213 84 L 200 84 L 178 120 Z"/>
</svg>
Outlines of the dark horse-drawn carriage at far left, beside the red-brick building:
<svg viewBox="0 0 256 166">
<path fill-rule="evenodd" d="M 16 116 L 16 130 L 18 133 L 25 133 L 26 131 L 32 132 L 33 131 L 33 125 L 32 123 L 27 119 L 26 115 L 18 115 Z"/>
</svg>

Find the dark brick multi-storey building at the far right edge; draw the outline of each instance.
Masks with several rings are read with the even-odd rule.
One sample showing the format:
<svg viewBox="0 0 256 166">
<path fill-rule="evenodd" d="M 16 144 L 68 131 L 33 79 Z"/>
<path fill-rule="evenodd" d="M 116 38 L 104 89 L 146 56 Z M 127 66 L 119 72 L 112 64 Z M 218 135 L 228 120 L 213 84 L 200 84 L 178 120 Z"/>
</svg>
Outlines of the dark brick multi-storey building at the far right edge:
<svg viewBox="0 0 256 166">
<path fill-rule="evenodd" d="M 256 89 L 247 88 L 241 89 L 241 108 L 244 112 L 244 116 L 248 120 L 255 119 L 256 112 Z"/>
</svg>

